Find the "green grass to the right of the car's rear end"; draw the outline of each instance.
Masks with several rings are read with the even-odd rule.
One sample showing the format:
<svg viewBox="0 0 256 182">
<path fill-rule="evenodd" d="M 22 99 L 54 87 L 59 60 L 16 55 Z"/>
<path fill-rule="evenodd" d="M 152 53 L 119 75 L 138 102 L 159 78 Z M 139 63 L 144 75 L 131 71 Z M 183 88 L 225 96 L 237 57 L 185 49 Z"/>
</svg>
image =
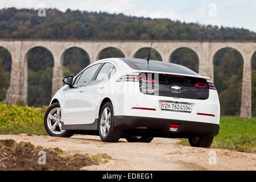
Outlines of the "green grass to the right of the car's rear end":
<svg viewBox="0 0 256 182">
<path fill-rule="evenodd" d="M 188 139 L 180 144 L 188 145 Z M 214 137 L 211 148 L 226 148 L 256 153 L 256 118 L 221 117 L 220 133 Z"/>
</svg>

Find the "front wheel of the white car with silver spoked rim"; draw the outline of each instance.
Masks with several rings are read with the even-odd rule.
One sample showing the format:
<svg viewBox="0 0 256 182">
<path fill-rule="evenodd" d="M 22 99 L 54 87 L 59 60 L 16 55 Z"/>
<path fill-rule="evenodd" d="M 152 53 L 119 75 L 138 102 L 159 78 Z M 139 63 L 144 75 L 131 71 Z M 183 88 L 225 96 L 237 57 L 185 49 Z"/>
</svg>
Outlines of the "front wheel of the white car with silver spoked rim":
<svg viewBox="0 0 256 182">
<path fill-rule="evenodd" d="M 59 117 L 57 117 L 58 112 L 59 112 Z M 46 129 L 46 132 L 51 137 L 71 137 L 73 135 L 72 131 L 61 130 L 60 122 L 61 122 L 60 104 L 54 103 L 48 107 L 48 109 L 46 110 L 46 113 L 44 114 L 44 129 Z"/>
</svg>

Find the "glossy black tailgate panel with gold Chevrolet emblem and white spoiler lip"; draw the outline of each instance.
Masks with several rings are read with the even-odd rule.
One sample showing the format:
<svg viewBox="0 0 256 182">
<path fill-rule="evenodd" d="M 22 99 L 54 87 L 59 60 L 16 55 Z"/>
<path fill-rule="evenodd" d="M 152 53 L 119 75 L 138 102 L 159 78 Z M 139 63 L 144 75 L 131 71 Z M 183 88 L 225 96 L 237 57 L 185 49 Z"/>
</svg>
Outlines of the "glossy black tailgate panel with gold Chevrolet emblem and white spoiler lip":
<svg viewBox="0 0 256 182">
<path fill-rule="evenodd" d="M 136 72 L 144 94 L 205 100 L 209 97 L 209 77 L 163 72 Z M 158 91 L 157 91 L 158 90 Z"/>
</svg>

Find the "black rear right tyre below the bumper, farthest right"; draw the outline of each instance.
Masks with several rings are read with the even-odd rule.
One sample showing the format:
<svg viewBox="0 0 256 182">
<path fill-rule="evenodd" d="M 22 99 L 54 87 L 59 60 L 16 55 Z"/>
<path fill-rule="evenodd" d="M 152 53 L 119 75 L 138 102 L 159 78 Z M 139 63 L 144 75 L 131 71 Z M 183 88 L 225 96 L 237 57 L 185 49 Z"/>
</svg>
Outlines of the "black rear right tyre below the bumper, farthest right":
<svg viewBox="0 0 256 182">
<path fill-rule="evenodd" d="M 212 144 L 214 137 L 195 137 L 195 138 L 189 138 L 189 144 L 191 147 L 203 147 L 207 148 L 210 147 Z"/>
</svg>

